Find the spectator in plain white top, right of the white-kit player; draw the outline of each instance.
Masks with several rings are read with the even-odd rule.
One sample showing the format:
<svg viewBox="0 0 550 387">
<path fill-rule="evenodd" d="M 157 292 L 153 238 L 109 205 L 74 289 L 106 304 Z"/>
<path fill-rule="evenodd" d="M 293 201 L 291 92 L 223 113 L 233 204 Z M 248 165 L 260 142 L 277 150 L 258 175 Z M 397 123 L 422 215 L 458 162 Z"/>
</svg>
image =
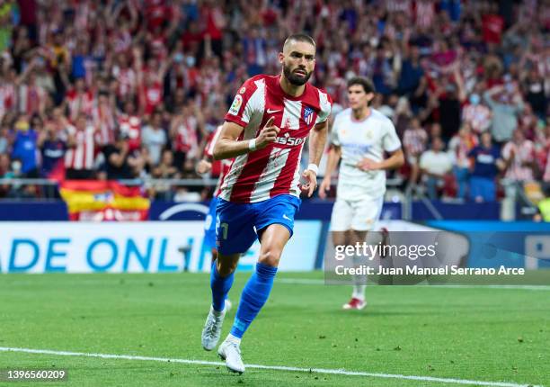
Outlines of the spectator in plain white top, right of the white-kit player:
<svg viewBox="0 0 550 387">
<path fill-rule="evenodd" d="M 446 176 L 453 166 L 451 157 L 443 151 L 444 147 L 442 139 L 432 139 L 431 148 L 422 153 L 420 158 L 420 167 L 430 199 L 438 198 L 438 189 L 445 184 Z"/>
</svg>

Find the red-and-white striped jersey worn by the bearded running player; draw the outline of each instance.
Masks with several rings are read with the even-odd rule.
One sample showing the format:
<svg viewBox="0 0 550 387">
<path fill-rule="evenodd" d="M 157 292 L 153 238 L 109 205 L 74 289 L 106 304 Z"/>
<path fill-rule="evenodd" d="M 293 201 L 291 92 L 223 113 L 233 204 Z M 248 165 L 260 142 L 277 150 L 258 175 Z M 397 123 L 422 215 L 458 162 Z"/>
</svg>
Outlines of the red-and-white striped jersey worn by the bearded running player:
<svg viewBox="0 0 550 387">
<path fill-rule="evenodd" d="M 298 97 L 286 94 L 280 76 L 253 76 L 235 95 L 226 121 L 244 128 L 239 139 L 256 138 L 273 117 L 280 128 L 266 148 L 235 157 L 224 178 L 219 197 L 230 202 L 262 202 L 279 194 L 299 197 L 302 148 L 315 124 L 328 119 L 331 97 L 306 84 Z"/>
</svg>

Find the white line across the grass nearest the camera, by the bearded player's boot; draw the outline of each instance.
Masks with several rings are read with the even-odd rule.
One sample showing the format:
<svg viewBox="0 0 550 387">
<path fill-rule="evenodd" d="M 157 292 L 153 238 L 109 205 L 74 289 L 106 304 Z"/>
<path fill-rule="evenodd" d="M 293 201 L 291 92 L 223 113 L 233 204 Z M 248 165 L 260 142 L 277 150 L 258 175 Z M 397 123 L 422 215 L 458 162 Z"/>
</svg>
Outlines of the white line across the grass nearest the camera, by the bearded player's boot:
<svg viewBox="0 0 550 387">
<path fill-rule="evenodd" d="M 152 356 L 88 354 L 84 352 L 53 351 L 50 349 L 0 347 L 0 352 L 23 352 L 27 354 L 41 354 L 41 355 L 55 355 L 55 356 L 100 357 L 102 359 L 142 360 L 142 361 L 149 361 L 149 362 L 181 363 L 185 365 L 226 365 L 225 363 L 209 362 L 207 360 L 191 360 L 191 359 L 177 359 L 177 358 L 173 359 L 170 357 L 152 357 Z M 346 376 L 368 376 L 373 378 L 402 379 L 402 380 L 411 380 L 411 381 L 417 381 L 417 382 L 421 381 L 421 382 L 433 382 L 433 383 L 475 384 L 479 386 L 490 386 L 490 387 L 543 387 L 543 386 L 535 386 L 533 384 L 518 384 L 518 383 L 507 383 L 507 382 L 483 382 L 483 381 L 471 381 L 467 379 L 436 378 L 436 377 L 430 377 L 430 376 L 414 376 L 414 375 L 402 375 L 402 374 L 375 374 L 375 373 L 364 373 L 359 371 L 346 371 L 344 369 L 330 369 L 330 368 L 300 368 L 300 367 L 288 367 L 284 365 L 246 365 L 246 367 L 257 368 L 262 370 L 293 371 L 298 373 L 338 374 L 338 375 L 346 375 Z"/>
</svg>

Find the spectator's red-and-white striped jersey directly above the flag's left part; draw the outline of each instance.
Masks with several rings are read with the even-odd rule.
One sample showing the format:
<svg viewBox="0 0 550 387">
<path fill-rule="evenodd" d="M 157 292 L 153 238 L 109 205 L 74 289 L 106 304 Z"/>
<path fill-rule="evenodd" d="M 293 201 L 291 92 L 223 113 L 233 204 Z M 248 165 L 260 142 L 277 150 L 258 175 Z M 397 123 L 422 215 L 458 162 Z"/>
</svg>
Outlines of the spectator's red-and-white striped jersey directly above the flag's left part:
<svg viewBox="0 0 550 387">
<path fill-rule="evenodd" d="M 65 153 L 65 167 L 73 169 L 93 169 L 96 155 L 97 132 L 93 126 L 85 130 L 67 127 L 69 134 L 75 136 L 75 148 L 68 148 Z"/>
</svg>

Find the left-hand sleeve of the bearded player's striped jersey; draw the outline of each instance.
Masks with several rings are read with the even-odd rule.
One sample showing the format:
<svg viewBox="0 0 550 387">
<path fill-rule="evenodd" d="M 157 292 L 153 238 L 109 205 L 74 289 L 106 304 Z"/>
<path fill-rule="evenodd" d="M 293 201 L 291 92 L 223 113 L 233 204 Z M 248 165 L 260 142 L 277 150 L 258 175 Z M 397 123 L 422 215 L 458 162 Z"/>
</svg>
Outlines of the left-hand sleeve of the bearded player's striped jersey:
<svg viewBox="0 0 550 387">
<path fill-rule="evenodd" d="M 244 82 L 226 113 L 226 121 L 245 127 L 254 114 L 263 115 L 264 90 L 265 81 L 262 78 L 253 77 Z"/>
</svg>

